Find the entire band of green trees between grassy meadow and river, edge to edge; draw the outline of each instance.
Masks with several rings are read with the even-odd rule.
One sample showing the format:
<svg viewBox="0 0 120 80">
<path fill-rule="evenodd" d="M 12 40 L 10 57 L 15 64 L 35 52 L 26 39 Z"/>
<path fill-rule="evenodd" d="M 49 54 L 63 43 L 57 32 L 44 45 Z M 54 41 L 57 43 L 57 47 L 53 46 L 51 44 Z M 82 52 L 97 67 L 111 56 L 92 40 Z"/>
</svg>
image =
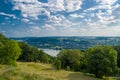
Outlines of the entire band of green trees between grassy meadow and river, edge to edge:
<svg viewBox="0 0 120 80">
<path fill-rule="evenodd" d="M 62 49 L 57 57 L 52 57 L 37 47 L 0 34 L 0 64 L 17 66 L 16 61 L 49 63 L 57 70 L 90 73 L 105 80 L 110 80 L 109 76 L 120 77 L 120 46 Z"/>
</svg>

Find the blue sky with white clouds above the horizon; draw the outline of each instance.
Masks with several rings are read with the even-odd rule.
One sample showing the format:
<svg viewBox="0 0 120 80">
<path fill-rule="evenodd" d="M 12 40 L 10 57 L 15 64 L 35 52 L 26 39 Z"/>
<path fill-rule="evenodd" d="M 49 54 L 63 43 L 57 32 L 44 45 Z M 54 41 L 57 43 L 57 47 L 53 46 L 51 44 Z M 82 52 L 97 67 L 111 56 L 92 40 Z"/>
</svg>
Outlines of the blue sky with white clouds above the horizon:
<svg viewBox="0 0 120 80">
<path fill-rule="evenodd" d="M 120 36 L 120 0 L 0 0 L 0 33 Z"/>
</svg>

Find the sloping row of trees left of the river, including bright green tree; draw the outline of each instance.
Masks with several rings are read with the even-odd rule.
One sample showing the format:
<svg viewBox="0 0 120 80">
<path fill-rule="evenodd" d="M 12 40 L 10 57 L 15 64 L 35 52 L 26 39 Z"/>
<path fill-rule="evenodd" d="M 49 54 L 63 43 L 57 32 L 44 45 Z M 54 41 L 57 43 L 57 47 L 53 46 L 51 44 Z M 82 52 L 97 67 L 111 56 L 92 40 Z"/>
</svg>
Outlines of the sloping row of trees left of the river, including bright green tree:
<svg viewBox="0 0 120 80">
<path fill-rule="evenodd" d="M 0 34 L 0 63 L 16 65 L 16 61 L 52 63 L 54 58 L 25 42 L 9 40 Z"/>
</svg>

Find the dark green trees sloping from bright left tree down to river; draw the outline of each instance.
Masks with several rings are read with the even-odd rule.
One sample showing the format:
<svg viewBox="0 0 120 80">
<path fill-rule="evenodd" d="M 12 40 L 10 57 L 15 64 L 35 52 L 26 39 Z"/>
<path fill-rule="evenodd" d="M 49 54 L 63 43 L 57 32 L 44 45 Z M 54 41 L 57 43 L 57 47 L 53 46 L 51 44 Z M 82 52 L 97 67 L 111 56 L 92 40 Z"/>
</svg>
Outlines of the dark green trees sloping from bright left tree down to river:
<svg viewBox="0 0 120 80">
<path fill-rule="evenodd" d="M 30 46 L 25 42 L 19 42 L 22 54 L 19 57 L 20 61 L 37 62 L 42 63 L 53 62 L 54 58 L 46 54 L 43 50 L 39 50 L 36 47 Z"/>
</svg>

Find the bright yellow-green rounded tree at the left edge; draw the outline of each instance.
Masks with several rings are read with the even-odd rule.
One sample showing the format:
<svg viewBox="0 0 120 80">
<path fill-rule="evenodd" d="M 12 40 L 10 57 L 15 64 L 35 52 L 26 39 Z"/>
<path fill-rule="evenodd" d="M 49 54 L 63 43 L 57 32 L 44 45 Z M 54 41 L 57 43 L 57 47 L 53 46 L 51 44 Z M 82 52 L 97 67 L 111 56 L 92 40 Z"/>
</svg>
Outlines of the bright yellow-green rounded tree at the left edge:
<svg viewBox="0 0 120 80">
<path fill-rule="evenodd" d="M 16 60 L 21 54 L 21 49 L 16 41 L 6 41 L 5 45 L 0 48 L 0 63 L 16 65 Z"/>
</svg>

